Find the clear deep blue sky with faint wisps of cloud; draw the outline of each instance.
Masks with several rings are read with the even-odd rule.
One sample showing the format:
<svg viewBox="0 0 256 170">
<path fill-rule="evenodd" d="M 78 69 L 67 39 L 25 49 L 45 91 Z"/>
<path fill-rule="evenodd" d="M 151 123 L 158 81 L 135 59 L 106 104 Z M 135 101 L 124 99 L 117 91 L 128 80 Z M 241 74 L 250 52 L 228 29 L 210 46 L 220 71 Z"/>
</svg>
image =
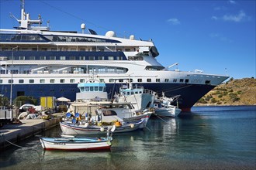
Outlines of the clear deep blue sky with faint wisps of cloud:
<svg viewBox="0 0 256 170">
<path fill-rule="evenodd" d="M 81 32 L 81 23 L 105 35 L 153 39 L 157 61 L 172 69 L 255 77 L 255 1 L 41 1 L 26 0 L 31 19 L 51 30 Z M 19 0 L 0 0 L 0 28 L 18 26 Z M 227 72 L 226 69 L 227 68 Z"/>
</svg>

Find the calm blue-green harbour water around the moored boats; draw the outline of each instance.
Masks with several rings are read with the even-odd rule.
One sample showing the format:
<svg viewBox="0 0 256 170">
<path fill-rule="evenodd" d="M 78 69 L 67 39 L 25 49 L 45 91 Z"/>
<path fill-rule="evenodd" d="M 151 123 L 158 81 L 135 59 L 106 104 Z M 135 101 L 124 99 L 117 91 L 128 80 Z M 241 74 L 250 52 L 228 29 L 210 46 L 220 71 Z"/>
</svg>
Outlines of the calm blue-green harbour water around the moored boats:
<svg viewBox="0 0 256 170">
<path fill-rule="evenodd" d="M 61 128 L 42 136 L 60 137 Z M 38 136 L 0 152 L 3 169 L 255 169 L 256 106 L 192 107 L 113 134 L 110 151 L 43 151 Z"/>
</svg>

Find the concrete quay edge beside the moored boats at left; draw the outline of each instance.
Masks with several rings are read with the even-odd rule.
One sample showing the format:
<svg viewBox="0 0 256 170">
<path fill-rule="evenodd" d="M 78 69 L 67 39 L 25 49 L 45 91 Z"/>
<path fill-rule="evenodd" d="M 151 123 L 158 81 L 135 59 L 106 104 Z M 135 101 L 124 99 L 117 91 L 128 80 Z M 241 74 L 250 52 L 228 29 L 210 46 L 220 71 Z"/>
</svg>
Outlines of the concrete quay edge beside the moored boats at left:
<svg viewBox="0 0 256 170">
<path fill-rule="evenodd" d="M 49 120 L 27 119 L 19 120 L 22 124 L 5 124 L 0 128 L 0 151 L 8 148 L 11 143 L 17 143 L 25 138 L 32 137 L 60 123 L 60 117 L 52 117 Z"/>
</svg>

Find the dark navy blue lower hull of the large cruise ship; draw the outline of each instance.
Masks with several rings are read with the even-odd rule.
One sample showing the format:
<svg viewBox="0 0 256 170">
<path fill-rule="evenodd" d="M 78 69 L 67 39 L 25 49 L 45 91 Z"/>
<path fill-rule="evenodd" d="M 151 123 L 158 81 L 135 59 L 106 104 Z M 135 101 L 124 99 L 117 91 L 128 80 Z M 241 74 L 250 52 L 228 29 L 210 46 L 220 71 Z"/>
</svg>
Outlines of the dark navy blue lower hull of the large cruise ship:
<svg viewBox="0 0 256 170">
<path fill-rule="evenodd" d="M 181 95 L 178 98 L 178 107 L 182 110 L 189 110 L 201 97 L 215 86 L 179 83 L 134 83 L 146 89 L 154 90 L 159 95 L 164 91 L 167 97 Z M 75 100 L 76 93 L 79 92 L 77 84 L 13 84 L 12 98 L 17 96 L 33 96 L 36 98 L 54 96 L 67 97 L 71 101 Z M 120 83 L 106 83 L 106 90 L 109 97 L 119 92 Z M 10 85 L 2 85 L 0 93 L 5 97 L 10 96 Z M 39 100 L 40 101 L 40 100 Z"/>
</svg>

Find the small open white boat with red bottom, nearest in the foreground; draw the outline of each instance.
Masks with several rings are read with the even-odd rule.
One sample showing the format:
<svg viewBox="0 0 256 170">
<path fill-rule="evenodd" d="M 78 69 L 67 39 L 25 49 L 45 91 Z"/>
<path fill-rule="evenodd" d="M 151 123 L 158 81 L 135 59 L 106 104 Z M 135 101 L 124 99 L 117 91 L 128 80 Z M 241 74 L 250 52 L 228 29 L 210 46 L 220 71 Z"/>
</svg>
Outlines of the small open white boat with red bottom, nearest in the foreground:
<svg viewBox="0 0 256 170">
<path fill-rule="evenodd" d="M 65 150 L 65 151 L 88 151 L 110 149 L 112 134 L 116 127 L 108 127 L 107 138 L 78 138 L 70 135 L 62 135 L 62 138 L 40 138 L 41 145 L 45 150 Z"/>
</svg>

